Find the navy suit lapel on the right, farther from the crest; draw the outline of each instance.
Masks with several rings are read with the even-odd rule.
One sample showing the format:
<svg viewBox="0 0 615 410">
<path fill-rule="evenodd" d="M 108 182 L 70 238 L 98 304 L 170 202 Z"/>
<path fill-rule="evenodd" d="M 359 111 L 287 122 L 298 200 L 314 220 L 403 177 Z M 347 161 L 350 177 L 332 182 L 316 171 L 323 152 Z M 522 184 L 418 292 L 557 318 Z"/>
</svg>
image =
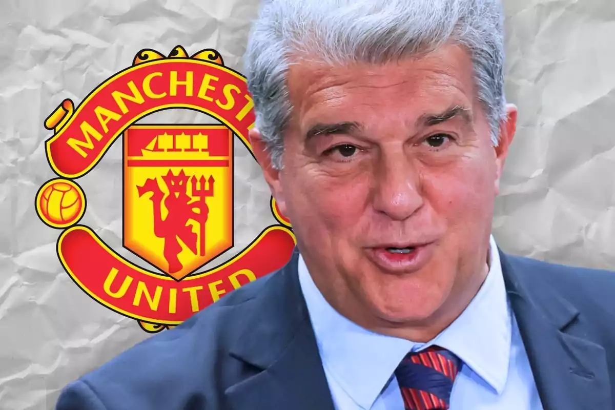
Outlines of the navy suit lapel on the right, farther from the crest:
<svg viewBox="0 0 615 410">
<path fill-rule="evenodd" d="M 584 334 L 579 310 L 500 251 L 507 294 L 545 410 L 611 409 L 605 350 Z M 528 282 L 528 278 L 531 282 Z M 540 285 L 539 285 L 540 283 Z M 542 285 L 542 286 L 541 286 Z"/>
</svg>

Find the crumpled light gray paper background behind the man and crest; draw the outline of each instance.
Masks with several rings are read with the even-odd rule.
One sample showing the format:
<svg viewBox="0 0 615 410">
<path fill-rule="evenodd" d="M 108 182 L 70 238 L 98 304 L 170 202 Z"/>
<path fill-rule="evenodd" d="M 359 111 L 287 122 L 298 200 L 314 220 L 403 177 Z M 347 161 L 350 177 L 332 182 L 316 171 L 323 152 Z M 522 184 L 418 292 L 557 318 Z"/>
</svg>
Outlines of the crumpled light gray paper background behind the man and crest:
<svg viewBox="0 0 615 410">
<path fill-rule="evenodd" d="M 615 2 L 505 0 L 507 97 L 520 109 L 496 201 L 494 235 L 510 253 L 615 268 Z M 34 196 L 54 176 L 44 119 L 80 102 L 138 50 L 215 48 L 242 72 L 256 0 L 2 0 L 0 2 L 0 409 L 53 409 L 69 381 L 149 337 L 97 304 L 63 271 L 59 231 Z M 215 122 L 173 110 L 141 121 Z M 122 250 L 120 144 L 79 179 L 82 222 Z M 273 223 L 269 191 L 236 144 L 236 246 Z M 218 262 L 218 261 L 216 261 Z"/>
</svg>

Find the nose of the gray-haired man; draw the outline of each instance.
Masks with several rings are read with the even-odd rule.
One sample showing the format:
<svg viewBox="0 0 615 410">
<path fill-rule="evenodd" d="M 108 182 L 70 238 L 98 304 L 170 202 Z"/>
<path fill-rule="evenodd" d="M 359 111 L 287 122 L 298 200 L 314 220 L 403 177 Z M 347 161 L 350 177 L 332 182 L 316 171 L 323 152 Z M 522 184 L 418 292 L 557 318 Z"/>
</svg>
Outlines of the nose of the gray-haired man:
<svg viewBox="0 0 615 410">
<path fill-rule="evenodd" d="M 373 207 L 389 218 L 403 221 L 423 206 L 421 177 L 407 156 L 396 154 L 383 160 L 376 173 Z"/>
</svg>

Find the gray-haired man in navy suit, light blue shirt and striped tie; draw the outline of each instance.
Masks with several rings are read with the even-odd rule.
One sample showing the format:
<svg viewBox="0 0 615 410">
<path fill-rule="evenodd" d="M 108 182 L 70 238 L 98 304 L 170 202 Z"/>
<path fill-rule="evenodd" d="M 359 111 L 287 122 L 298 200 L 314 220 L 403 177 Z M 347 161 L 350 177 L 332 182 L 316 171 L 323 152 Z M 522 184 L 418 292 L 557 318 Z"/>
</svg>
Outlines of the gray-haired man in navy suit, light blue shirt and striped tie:
<svg viewBox="0 0 615 410">
<path fill-rule="evenodd" d="M 491 237 L 502 49 L 496 0 L 266 2 L 250 139 L 297 251 L 57 409 L 615 408 L 615 275 Z"/>
</svg>

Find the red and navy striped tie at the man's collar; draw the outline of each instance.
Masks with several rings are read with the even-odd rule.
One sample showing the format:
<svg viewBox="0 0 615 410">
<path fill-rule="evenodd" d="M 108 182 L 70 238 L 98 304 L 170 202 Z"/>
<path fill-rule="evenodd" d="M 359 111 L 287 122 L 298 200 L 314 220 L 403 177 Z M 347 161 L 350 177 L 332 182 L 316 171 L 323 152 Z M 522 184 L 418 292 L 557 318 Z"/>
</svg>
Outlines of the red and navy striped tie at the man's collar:
<svg viewBox="0 0 615 410">
<path fill-rule="evenodd" d="M 395 369 L 406 410 L 448 410 L 460 366 L 461 360 L 441 347 L 408 353 Z"/>
</svg>

